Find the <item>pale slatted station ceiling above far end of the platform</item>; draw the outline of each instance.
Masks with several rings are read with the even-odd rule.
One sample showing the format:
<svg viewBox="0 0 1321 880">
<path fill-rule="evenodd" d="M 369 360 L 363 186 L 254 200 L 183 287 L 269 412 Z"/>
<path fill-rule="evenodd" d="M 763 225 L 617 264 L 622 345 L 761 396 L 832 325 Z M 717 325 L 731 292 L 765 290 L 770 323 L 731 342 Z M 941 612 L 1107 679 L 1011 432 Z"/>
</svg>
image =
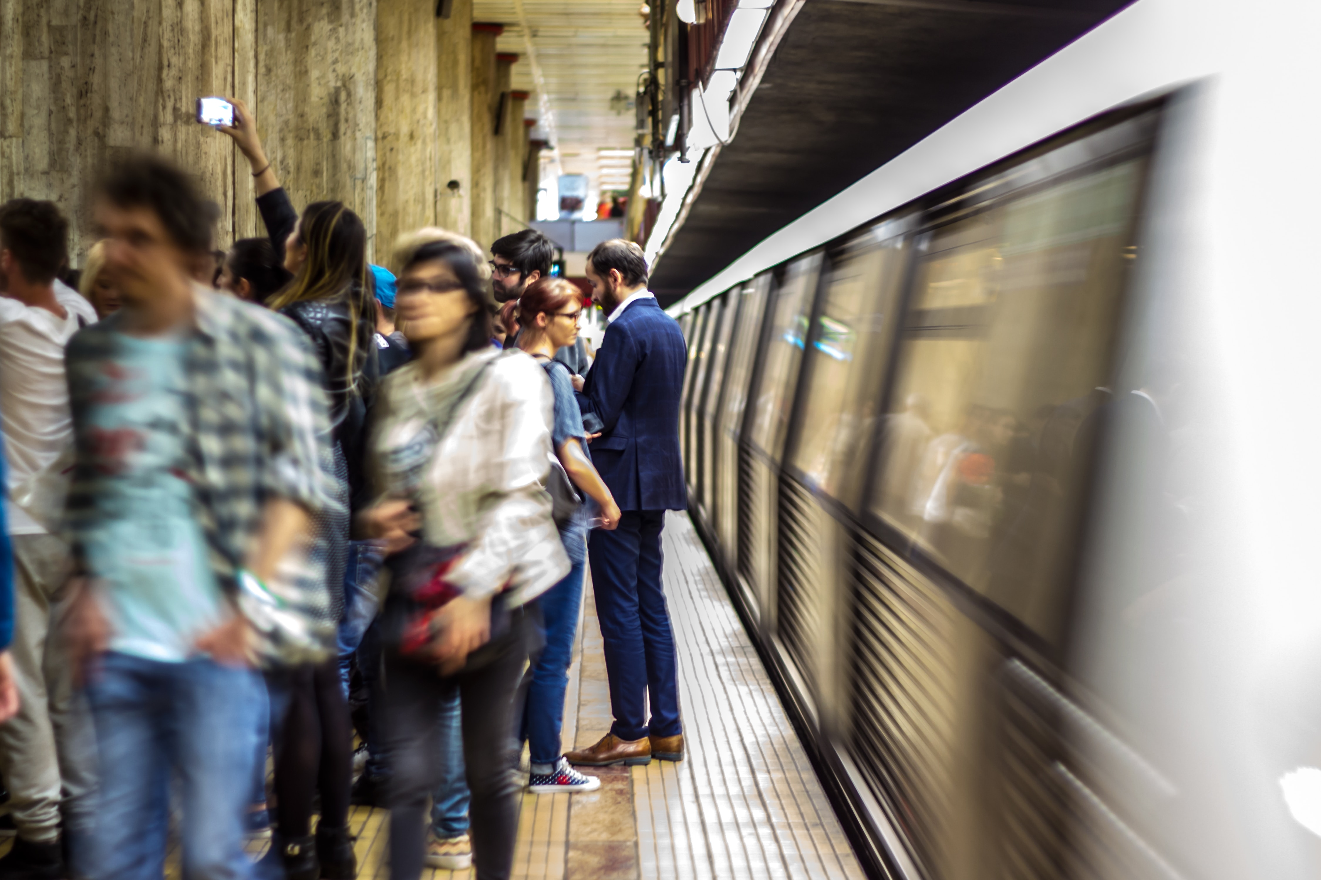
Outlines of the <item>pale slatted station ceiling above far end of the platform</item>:
<svg viewBox="0 0 1321 880">
<path fill-rule="evenodd" d="M 476 0 L 473 21 L 505 25 L 495 41 L 517 53 L 514 88 L 531 92 L 532 136 L 555 148 L 557 173 L 587 174 L 593 189 L 627 189 L 627 157 L 601 150 L 631 150 L 637 117 L 633 95 L 647 65 L 647 28 L 641 0 Z M 621 98 L 617 98 L 621 96 Z M 613 103 L 612 103 L 613 100 Z M 624 185 L 613 186 L 620 168 Z M 612 175 L 612 172 L 614 173 Z"/>
</svg>

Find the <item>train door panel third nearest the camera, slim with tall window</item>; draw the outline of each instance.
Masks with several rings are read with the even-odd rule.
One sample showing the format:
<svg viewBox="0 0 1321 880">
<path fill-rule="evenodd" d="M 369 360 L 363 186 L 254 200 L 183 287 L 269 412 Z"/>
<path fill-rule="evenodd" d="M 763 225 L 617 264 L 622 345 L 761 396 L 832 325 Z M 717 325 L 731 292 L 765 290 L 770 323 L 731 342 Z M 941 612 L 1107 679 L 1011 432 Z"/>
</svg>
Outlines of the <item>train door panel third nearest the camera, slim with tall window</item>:
<svg viewBox="0 0 1321 880">
<path fill-rule="evenodd" d="M 754 598 L 764 639 L 775 625 L 771 596 L 779 460 L 820 267 L 822 255 L 810 253 L 785 268 L 770 303 L 765 351 L 749 391 L 738 451 L 738 578 L 741 590 Z"/>
</svg>

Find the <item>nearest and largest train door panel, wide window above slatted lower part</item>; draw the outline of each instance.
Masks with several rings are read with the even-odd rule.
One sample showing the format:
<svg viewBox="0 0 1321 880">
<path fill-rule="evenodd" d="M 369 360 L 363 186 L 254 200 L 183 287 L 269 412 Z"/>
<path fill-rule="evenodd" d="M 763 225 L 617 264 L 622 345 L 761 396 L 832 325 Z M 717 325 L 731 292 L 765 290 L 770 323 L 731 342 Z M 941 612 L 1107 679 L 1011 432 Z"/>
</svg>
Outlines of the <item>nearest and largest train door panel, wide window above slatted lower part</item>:
<svg viewBox="0 0 1321 880">
<path fill-rule="evenodd" d="M 917 240 L 855 567 L 848 743 L 938 877 L 1063 873 L 1050 694 L 1149 124 L 1007 164 Z"/>
</svg>

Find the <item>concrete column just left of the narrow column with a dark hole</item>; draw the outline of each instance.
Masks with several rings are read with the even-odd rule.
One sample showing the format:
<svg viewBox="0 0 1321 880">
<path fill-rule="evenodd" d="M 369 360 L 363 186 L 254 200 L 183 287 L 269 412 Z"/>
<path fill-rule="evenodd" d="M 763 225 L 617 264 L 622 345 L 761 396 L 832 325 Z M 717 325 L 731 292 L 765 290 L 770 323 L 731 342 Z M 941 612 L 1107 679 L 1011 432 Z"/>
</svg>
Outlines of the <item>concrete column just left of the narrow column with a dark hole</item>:
<svg viewBox="0 0 1321 880">
<path fill-rule="evenodd" d="M 436 8 L 376 7 L 378 263 L 400 232 L 436 223 Z"/>
</svg>

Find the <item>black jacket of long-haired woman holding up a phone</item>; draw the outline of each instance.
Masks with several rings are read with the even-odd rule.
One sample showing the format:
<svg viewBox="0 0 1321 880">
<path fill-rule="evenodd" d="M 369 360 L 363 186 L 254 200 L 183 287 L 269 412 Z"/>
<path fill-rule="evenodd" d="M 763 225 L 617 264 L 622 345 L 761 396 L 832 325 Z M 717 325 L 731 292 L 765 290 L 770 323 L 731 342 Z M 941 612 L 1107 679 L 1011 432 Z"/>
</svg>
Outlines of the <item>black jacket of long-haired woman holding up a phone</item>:
<svg viewBox="0 0 1321 880">
<path fill-rule="evenodd" d="M 284 257 L 284 241 L 299 222 L 284 189 L 258 197 L 258 208 L 266 222 L 267 234 L 275 252 Z M 380 379 L 376 358 L 375 330 L 370 319 L 359 318 L 355 344 L 350 344 L 350 309 L 358 299 L 349 289 L 329 299 L 293 302 L 280 309 L 308 335 L 321 363 L 322 388 L 330 408 L 330 427 L 334 441 L 343 449 L 349 464 L 349 491 L 359 499 L 363 488 L 362 459 L 366 453 L 367 410 Z M 353 350 L 353 368 L 349 358 Z M 354 505 L 357 507 L 357 504 Z"/>
</svg>

